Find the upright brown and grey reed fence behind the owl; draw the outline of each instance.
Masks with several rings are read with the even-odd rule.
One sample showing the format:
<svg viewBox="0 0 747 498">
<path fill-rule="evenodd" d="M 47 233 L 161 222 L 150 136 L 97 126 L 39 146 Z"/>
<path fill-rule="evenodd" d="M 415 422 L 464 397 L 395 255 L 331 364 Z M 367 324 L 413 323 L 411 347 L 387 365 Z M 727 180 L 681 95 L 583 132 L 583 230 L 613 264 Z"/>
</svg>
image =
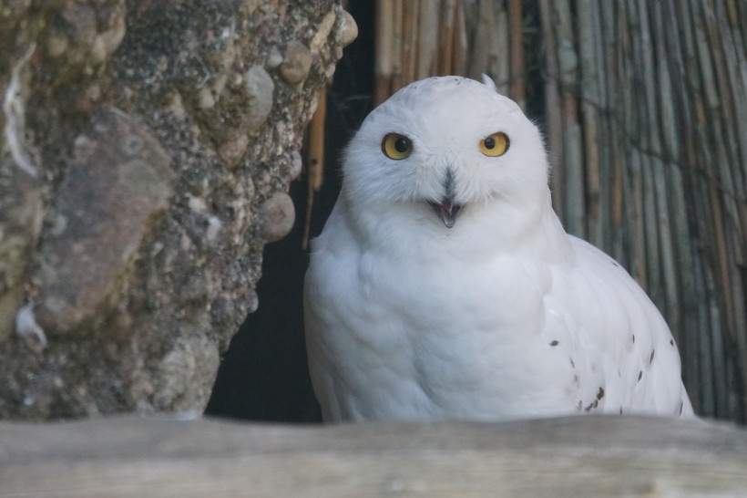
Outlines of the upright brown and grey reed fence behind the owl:
<svg viewBox="0 0 747 498">
<path fill-rule="evenodd" d="M 538 84 L 568 232 L 659 306 L 696 410 L 745 422 L 747 4 L 378 0 L 375 29 L 375 102 L 486 73 L 527 108 Z"/>
</svg>

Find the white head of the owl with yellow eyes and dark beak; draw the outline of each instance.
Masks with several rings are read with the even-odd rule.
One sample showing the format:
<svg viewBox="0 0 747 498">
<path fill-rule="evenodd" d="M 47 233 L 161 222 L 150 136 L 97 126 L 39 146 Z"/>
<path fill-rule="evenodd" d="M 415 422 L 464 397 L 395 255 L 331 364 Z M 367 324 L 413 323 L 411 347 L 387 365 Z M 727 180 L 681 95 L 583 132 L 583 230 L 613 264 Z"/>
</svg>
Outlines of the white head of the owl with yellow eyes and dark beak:
<svg viewBox="0 0 747 498">
<path fill-rule="evenodd" d="M 447 228 L 466 209 L 536 203 L 547 193 L 537 128 L 489 79 L 426 78 L 402 88 L 363 121 L 344 175 L 349 199 L 370 209 L 428 205 Z"/>
</svg>

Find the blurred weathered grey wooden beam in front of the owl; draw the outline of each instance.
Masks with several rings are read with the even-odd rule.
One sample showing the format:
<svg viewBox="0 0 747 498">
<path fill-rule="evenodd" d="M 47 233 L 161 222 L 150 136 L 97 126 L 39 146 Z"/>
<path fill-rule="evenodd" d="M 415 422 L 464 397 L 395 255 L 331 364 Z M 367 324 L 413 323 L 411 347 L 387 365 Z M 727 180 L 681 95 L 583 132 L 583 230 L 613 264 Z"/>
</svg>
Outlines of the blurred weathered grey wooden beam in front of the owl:
<svg viewBox="0 0 747 498">
<path fill-rule="evenodd" d="M 0 497 L 743 496 L 747 431 L 700 420 L 0 423 Z"/>
</svg>

